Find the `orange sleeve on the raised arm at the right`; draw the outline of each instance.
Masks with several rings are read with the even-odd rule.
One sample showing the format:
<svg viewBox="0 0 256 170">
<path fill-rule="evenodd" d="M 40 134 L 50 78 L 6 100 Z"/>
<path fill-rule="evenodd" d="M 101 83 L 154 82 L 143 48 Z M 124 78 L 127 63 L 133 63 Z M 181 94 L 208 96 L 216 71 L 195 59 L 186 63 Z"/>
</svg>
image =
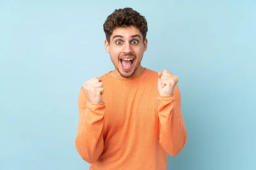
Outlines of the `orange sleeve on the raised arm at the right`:
<svg viewBox="0 0 256 170">
<path fill-rule="evenodd" d="M 176 85 L 171 96 L 158 96 L 160 144 L 171 156 L 176 156 L 185 146 L 187 133 L 180 108 L 180 91 Z"/>
</svg>

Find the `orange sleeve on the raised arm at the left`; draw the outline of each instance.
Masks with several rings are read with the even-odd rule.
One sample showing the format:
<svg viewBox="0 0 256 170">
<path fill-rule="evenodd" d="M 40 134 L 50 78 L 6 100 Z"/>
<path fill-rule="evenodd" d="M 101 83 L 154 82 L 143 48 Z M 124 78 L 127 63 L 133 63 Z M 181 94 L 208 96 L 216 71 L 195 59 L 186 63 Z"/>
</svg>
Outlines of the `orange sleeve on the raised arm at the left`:
<svg viewBox="0 0 256 170">
<path fill-rule="evenodd" d="M 78 107 L 79 123 L 75 142 L 76 150 L 82 159 L 92 164 L 99 158 L 104 148 L 103 122 L 105 103 L 90 103 L 81 88 Z"/>
</svg>

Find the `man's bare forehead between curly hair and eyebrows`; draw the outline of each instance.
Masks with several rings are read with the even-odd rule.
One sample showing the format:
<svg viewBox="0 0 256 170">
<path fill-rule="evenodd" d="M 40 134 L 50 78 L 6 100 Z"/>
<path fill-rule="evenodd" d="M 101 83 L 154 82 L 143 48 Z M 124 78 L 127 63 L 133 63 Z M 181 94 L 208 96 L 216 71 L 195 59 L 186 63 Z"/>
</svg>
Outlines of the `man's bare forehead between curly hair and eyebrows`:
<svg viewBox="0 0 256 170">
<path fill-rule="evenodd" d="M 111 35 L 111 37 L 115 35 L 121 35 L 123 37 L 131 37 L 132 35 L 135 35 L 135 34 L 142 35 L 140 33 L 140 30 L 134 26 L 119 27 L 113 30 L 113 34 Z"/>
</svg>

